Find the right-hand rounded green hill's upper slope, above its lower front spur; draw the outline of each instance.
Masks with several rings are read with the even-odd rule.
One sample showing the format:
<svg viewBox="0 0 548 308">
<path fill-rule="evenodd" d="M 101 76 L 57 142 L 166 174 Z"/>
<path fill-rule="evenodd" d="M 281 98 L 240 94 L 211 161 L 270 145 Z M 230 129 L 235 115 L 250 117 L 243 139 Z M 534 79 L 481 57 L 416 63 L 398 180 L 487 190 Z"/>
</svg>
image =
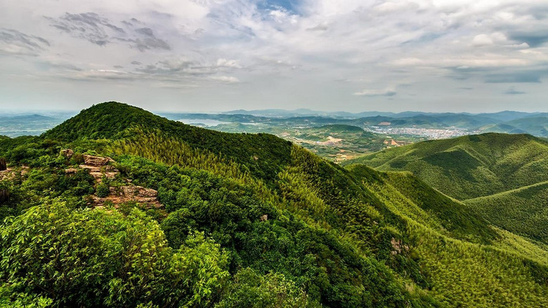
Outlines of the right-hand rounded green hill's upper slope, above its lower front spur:
<svg viewBox="0 0 548 308">
<path fill-rule="evenodd" d="M 408 170 L 459 200 L 547 180 L 548 142 L 531 135 L 486 133 L 386 149 L 350 163 Z"/>
</svg>

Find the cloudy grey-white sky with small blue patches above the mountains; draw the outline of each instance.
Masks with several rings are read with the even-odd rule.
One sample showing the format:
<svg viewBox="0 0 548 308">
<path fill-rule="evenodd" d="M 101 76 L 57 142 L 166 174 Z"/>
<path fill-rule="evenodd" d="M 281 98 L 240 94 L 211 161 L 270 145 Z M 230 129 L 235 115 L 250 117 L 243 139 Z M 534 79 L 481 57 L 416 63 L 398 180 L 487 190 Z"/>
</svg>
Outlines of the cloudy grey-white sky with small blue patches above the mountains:
<svg viewBox="0 0 548 308">
<path fill-rule="evenodd" d="M 0 107 L 548 112 L 548 1 L 0 1 Z"/>
</svg>

